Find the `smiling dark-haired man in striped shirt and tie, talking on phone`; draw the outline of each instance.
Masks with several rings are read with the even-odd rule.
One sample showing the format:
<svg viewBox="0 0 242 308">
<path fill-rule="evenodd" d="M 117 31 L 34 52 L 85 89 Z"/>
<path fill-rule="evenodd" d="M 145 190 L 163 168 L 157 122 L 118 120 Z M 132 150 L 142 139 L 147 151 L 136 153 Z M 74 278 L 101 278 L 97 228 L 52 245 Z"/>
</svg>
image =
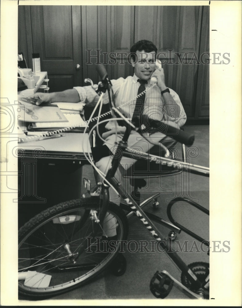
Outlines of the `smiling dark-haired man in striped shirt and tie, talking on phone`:
<svg viewBox="0 0 242 308">
<path fill-rule="evenodd" d="M 134 113 L 141 115 L 142 111 L 142 115 L 148 115 L 152 119 L 166 120 L 176 123 L 179 127 L 183 126 L 186 122 L 186 114 L 179 96 L 175 91 L 166 87 L 164 71 L 161 67 L 156 67 L 156 46 L 150 41 L 141 40 L 135 43 L 130 51 L 130 61 L 134 67 L 134 75 L 128 76 L 126 79 L 121 77 L 117 80 L 111 80 L 116 107 L 119 107 L 119 111 L 128 118 L 132 118 Z M 154 87 L 149 88 L 151 86 L 151 77 L 156 77 L 157 82 Z M 137 107 L 137 94 L 141 91 L 140 89 L 146 90 L 146 92 L 140 95 L 139 99 L 143 100 L 143 103 Z M 36 93 L 31 98 L 41 99 L 45 103 L 77 103 L 82 101 L 89 106 L 95 106 L 99 96 L 91 86 L 85 86 L 48 94 Z M 108 102 L 108 94 L 105 93 L 103 103 Z M 122 139 L 125 131 L 124 126 L 119 126 L 118 123 L 115 126 L 114 121 L 108 122 L 105 128 L 106 132 L 102 135 L 105 143 L 101 150 L 96 151 L 98 156 L 94 154 L 94 156 L 96 155 L 94 157 L 96 166 L 104 173 L 106 173 L 111 163 L 109 150 L 114 152 L 115 142 Z M 137 133 L 131 134 L 128 145 L 136 144 L 138 136 L 140 135 Z M 149 150 L 150 148 L 148 147 L 145 152 Z M 120 179 L 119 171 L 116 172 L 115 177 L 118 180 Z M 112 200 L 118 201 L 117 195 L 112 190 L 110 195 Z"/>
</svg>

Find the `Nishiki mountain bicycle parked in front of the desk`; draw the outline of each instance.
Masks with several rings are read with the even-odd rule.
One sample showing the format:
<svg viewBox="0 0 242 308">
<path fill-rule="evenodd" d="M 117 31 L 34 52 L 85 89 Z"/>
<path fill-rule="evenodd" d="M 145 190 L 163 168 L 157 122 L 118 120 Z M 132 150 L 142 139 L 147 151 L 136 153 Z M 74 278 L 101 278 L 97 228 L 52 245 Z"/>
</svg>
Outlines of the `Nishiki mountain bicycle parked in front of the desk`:
<svg viewBox="0 0 242 308">
<path fill-rule="evenodd" d="M 197 264 L 187 266 L 178 254 L 172 250 L 170 241 L 167 243 L 165 237 L 151 220 L 171 228 L 173 233 L 181 232 L 181 228 L 176 226 L 175 221 L 173 223 L 164 221 L 141 209 L 158 194 L 139 203 L 134 196 L 126 195 L 122 185 L 114 178 L 115 172 L 119 168 L 121 156 L 131 160 L 153 161 L 157 164 L 178 169 L 183 168 L 187 172 L 209 176 L 209 169 L 206 167 L 147 153 L 133 153 L 127 147 L 127 140 L 131 132 L 130 128 L 145 136 L 146 140 L 149 138 L 150 132 L 160 134 L 161 131 L 164 135 L 165 130 L 166 136 L 172 136 L 179 142 L 191 145 L 194 141 L 194 136 L 187 136 L 181 130 L 176 131 L 176 134 L 174 134 L 174 127 L 166 123 L 164 129 L 161 122 L 152 119 L 146 119 L 146 123 L 149 123 L 149 128 L 151 129 L 148 133 L 145 129 L 137 127 L 137 125 L 134 125 L 137 123 L 131 123 L 131 119 L 127 119 L 118 108 L 115 108 L 111 81 L 104 67 L 99 65 L 98 72 L 102 78 L 102 82 L 95 89 L 100 95 L 99 101 L 101 101 L 102 95 L 107 90 L 110 100 L 110 112 L 115 112 L 115 114 L 119 115 L 119 118 L 114 117 L 114 119 L 122 120 L 126 125 L 126 131 L 122 141 L 117 144 L 111 167 L 107 174 L 101 174 L 103 181 L 98 183 L 97 191 L 99 193 L 96 191 L 91 193 L 92 196 L 89 198 L 66 201 L 48 208 L 30 219 L 19 229 L 19 294 L 35 299 L 54 296 L 89 282 L 108 265 L 114 266 L 121 241 L 127 239 L 127 217 L 136 214 L 152 237 L 182 271 L 182 283 L 178 282 L 166 271 L 156 272 L 150 283 L 150 290 L 154 296 L 165 298 L 173 284 L 175 284 L 191 298 L 209 298 L 209 265 L 201 262 L 199 266 Z M 95 108 L 97 107 L 98 104 Z M 100 115 L 94 127 L 98 127 L 100 124 L 99 118 Z M 108 120 L 103 122 L 105 121 Z M 120 153 L 122 153 L 121 156 Z M 92 158 L 89 157 L 89 159 L 93 164 Z M 89 181 L 85 180 L 86 188 L 90 193 L 89 184 Z M 121 203 L 120 207 L 110 203 L 110 187 L 113 187 L 120 195 L 126 196 L 125 203 Z M 169 209 L 173 203 L 171 203 Z M 128 210 L 129 213 L 125 215 L 123 209 Z M 115 221 L 115 224 L 113 221 Z M 111 241 L 107 240 L 109 231 L 112 231 L 108 228 L 115 228 L 116 235 Z M 198 238 L 198 240 L 206 242 L 201 238 Z"/>
</svg>

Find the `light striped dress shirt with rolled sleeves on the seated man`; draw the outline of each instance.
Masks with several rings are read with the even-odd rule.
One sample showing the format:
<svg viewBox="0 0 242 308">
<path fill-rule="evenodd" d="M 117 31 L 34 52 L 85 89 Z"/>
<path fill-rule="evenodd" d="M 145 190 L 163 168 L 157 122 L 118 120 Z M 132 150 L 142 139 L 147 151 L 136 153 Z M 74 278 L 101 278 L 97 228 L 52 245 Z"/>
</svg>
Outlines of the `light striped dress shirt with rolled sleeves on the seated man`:
<svg viewBox="0 0 242 308">
<path fill-rule="evenodd" d="M 125 114 L 127 117 L 132 118 L 135 105 L 136 105 L 136 96 L 138 93 L 138 89 L 140 87 L 140 83 L 137 81 L 138 77 L 134 74 L 133 76 L 128 76 L 126 79 L 120 77 L 119 79 L 111 80 L 113 86 L 113 92 L 115 95 L 115 105 L 116 107 L 120 107 L 119 111 Z M 146 85 L 146 89 L 149 87 L 149 84 Z M 98 102 L 99 96 L 92 89 L 91 86 L 85 87 L 74 87 L 77 90 L 80 101 L 85 102 L 89 106 L 95 106 Z M 180 127 L 183 126 L 186 122 L 186 113 L 182 106 L 179 96 L 172 89 L 170 90 L 170 95 L 173 100 L 180 107 L 180 113 L 178 114 L 177 105 L 174 105 L 171 110 L 174 110 L 172 114 L 167 115 L 165 102 L 161 95 L 161 91 L 159 87 L 155 86 L 151 89 L 148 89 L 145 93 L 145 101 L 144 101 L 144 115 L 148 115 L 154 120 L 166 120 L 177 123 Z M 128 102 L 128 103 L 127 103 Z M 109 103 L 108 93 L 103 95 L 103 103 Z M 110 121 L 106 124 L 107 130 L 112 130 L 115 128 L 114 121 Z M 118 126 L 118 131 L 120 133 L 124 132 L 124 128 Z"/>
</svg>

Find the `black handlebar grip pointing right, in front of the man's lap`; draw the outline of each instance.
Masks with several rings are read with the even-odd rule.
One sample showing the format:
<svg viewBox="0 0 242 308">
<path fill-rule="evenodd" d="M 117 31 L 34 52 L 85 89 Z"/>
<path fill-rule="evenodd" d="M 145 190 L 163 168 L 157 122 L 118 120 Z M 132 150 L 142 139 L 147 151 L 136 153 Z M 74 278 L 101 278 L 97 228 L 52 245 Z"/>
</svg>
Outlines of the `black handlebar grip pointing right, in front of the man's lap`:
<svg viewBox="0 0 242 308">
<path fill-rule="evenodd" d="M 132 122 L 136 127 L 139 127 L 140 118 L 133 117 Z M 191 146 L 194 143 L 195 139 L 194 135 L 184 132 L 183 130 L 178 128 L 177 124 L 174 124 L 172 122 L 153 120 L 148 116 L 143 115 L 142 123 L 144 123 L 144 126 L 146 127 L 143 130 L 144 132 L 145 131 L 150 133 L 161 132 L 166 136 L 173 137 L 173 139 L 175 139 L 176 141 L 184 143 L 188 146 Z"/>
</svg>

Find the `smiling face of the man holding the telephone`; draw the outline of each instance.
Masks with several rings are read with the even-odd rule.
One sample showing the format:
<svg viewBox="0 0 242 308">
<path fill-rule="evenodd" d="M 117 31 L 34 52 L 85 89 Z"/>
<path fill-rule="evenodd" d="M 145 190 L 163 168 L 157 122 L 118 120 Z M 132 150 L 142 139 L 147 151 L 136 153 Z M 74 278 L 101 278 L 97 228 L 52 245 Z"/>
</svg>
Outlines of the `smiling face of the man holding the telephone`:
<svg viewBox="0 0 242 308">
<path fill-rule="evenodd" d="M 156 53 L 155 51 L 145 52 L 136 51 L 136 62 L 131 59 L 134 73 L 139 79 L 149 80 L 153 71 L 156 69 Z"/>
</svg>

